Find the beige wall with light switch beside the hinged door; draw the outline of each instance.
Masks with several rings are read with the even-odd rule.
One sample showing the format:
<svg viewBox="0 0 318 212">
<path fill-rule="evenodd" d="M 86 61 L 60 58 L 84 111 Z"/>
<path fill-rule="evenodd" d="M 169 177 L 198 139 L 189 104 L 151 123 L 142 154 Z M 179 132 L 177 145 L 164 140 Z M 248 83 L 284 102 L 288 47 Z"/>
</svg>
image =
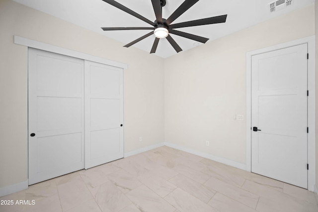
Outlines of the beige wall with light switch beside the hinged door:
<svg viewBox="0 0 318 212">
<path fill-rule="evenodd" d="M 314 34 L 312 4 L 165 59 L 165 141 L 246 163 L 246 52 Z"/>
</svg>

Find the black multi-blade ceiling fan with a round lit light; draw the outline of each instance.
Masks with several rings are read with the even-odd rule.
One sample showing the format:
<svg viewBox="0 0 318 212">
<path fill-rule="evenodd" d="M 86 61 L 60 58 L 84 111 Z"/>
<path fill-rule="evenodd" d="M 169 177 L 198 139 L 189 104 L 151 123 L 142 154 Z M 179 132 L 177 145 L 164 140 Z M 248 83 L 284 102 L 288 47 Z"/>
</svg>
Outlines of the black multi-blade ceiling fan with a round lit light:
<svg viewBox="0 0 318 212">
<path fill-rule="evenodd" d="M 138 14 L 137 12 L 127 8 L 126 6 L 118 3 L 115 0 L 103 0 L 103 1 L 152 25 L 152 27 L 102 27 L 104 31 L 143 30 L 143 29 L 152 30 L 148 34 L 124 46 L 124 47 L 130 47 L 134 45 L 135 43 L 145 39 L 146 37 L 149 37 L 150 35 L 155 34 L 156 39 L 150 53 L 156 52 L 160 38 L 166 38 L 176 52 L 182 51 L 180 46 L 174 41 L 174 39 L 169 35 L 169 33 L 179 35 L 181 37 L 185 37 L 185 38 L 195 40 L 201 43 L 205 43 L 209 40 L 209 38 L 201 37 L 194 34 L 189 34 L 186 32 L 175 30 L 175 29 L 182 28 L 182 27 L 189 27 L 189 26 L 200 26 L 200 25 L 206 25 L 206 24 L 224 23 L 227 19 L 227 15 L 220 15 L 220 16 L 214 16 L 209 18 L 203 18 L 203 19 L 171 24 L 175 19 L 177 19 L 181 14 L 183 14 L 186 10 L 188 10 L 191 6 L 193 6 L 199 0 L 185 0 L 167 19 L 162 18 L 162 6 L 165 5 L 166 0 L 151 0 L 153 3 L 155 15 L 156 15 L 156 20 L 154 22 Z"/>
</svg>

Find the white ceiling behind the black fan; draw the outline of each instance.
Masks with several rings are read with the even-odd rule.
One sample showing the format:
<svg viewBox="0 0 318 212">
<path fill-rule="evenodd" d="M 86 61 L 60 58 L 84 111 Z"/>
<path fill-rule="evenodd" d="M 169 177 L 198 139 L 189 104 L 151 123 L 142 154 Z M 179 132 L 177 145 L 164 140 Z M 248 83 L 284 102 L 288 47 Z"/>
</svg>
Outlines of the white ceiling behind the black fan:
<svg viewBox="0 0 318 212">
<path fill-rule="evenodd" d="M 118 40 L 123 43 L 123 46 L 150 32 L 150 30 L 103 31 L 100 27 L 151 27 L 151 25 L 102 0 L 14 1 Z M 166 5 L 162 8 L 162 17 L 165 19 L 168 18 L 184 0 L 166 1 Z M 247 28 L 315 2 L 315 0 L 293 0 L 294 4 L 292 6 L 270 13 L 268 3 L 272 1 L 273 0 L 199 0 L 190 9 L 173 21 L 173 23 L 228 14 L 226 23 L 177 29 L 179 31 L 210 38 L 208 42 L 211 42 L 211 40 L 226 36 L 243 28 Z M 149 20 L 155 21 L 156 19 L 151 0 L 117 0 L 117 2 L 134 10 Z M 204 45 L 201 43 L 198 44 L 197 41 L 173 34 L 171 37 L 173 37 L 183 51 L 198 45 Z M 154 40 L 155 36 L 151 35 L 129 48 L 135 47 L 150 52 Z M 155 54 L 159 57 L 167 58 L 177 53 L 170 43 L 163 38 L 160 39 Z"/>
</svg>

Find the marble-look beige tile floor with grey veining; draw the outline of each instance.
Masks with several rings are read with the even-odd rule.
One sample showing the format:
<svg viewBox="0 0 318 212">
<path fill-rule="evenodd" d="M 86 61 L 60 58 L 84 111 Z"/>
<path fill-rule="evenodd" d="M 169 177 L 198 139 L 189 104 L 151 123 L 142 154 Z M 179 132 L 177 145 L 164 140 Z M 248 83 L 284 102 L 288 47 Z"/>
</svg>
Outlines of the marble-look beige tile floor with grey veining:
<svg viewBox="0 0 318 212">
<path fill-rule="evenodd" d="M 80 170 L 0 200 L 0 212 L 318 212 L 316 195 L 170 147 Z"/>
</svg>

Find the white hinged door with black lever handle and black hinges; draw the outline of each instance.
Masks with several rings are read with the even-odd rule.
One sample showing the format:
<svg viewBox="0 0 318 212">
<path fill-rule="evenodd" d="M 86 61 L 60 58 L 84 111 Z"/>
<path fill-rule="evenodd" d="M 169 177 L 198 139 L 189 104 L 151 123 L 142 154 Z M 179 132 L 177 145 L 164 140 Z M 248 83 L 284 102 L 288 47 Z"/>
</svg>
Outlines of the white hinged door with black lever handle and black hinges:
<svg viewBox="0 0 318 212">
<path fill-rule="evenodd" d="M 307 44 L 252 56 L 251 96 L 252 172 L 307 188 Z"/>
</svg>

